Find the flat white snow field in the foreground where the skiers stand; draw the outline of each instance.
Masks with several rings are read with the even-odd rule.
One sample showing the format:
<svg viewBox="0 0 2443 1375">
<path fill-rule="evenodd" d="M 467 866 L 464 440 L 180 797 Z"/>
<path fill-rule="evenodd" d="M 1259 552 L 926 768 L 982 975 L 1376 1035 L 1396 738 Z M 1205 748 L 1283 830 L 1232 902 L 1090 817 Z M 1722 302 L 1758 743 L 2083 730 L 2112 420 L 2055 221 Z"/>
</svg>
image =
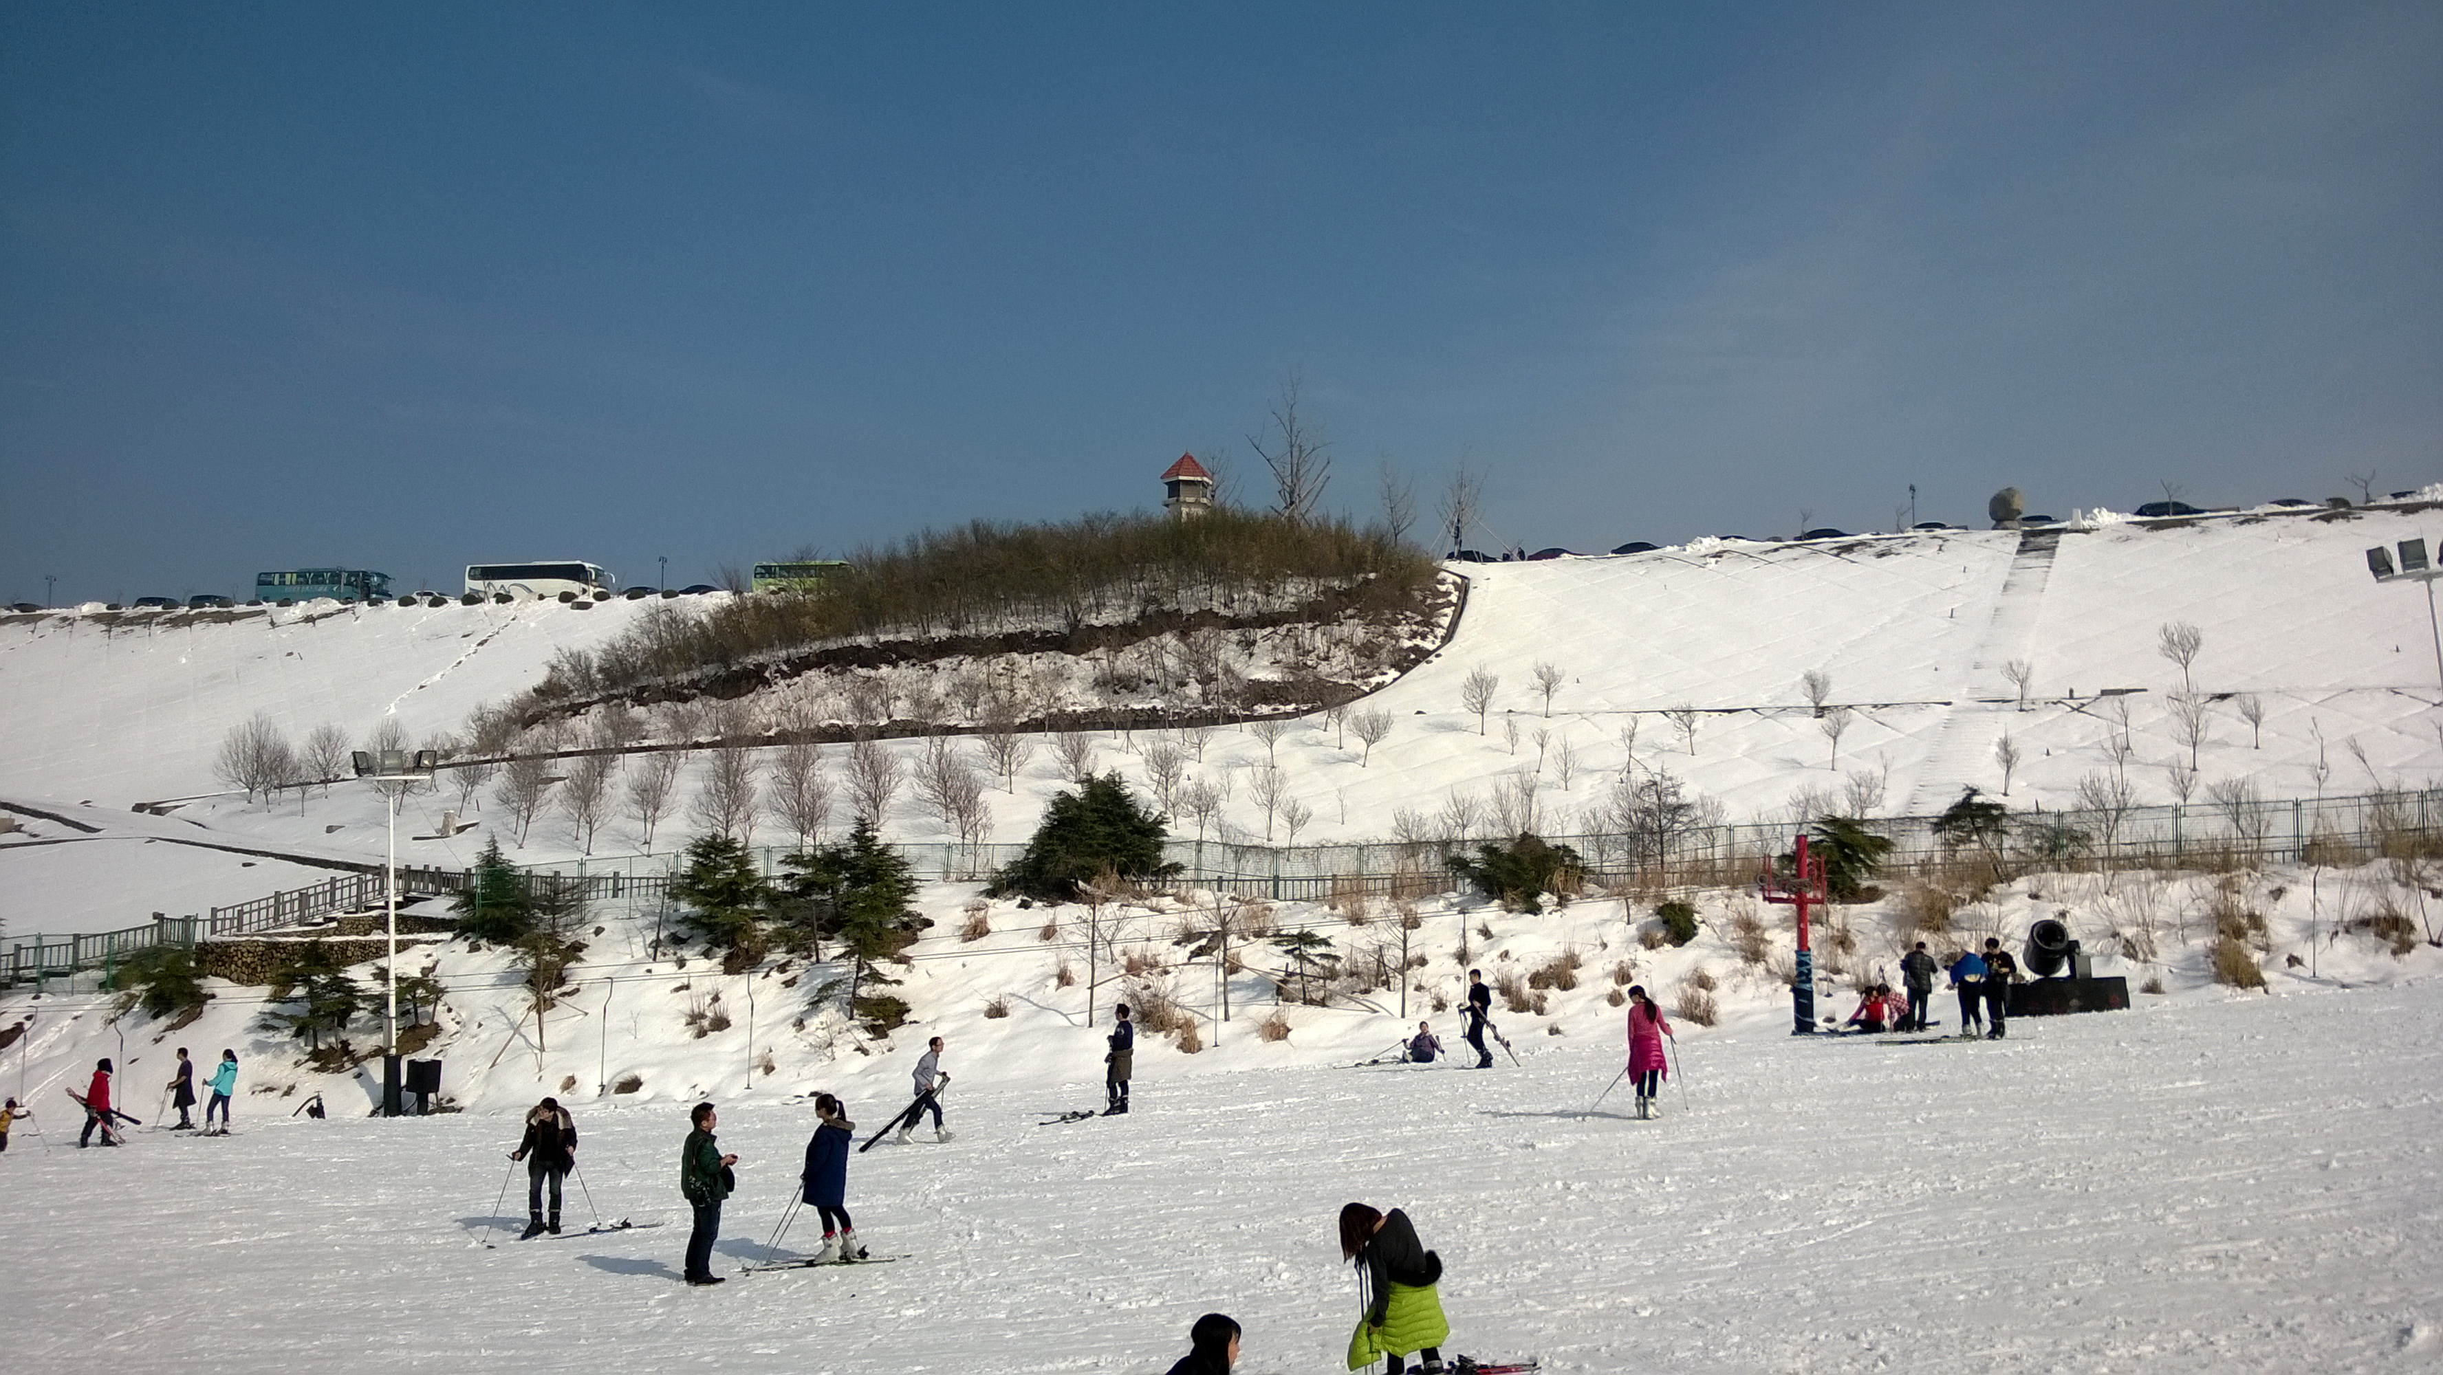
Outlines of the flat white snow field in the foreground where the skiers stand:
<svg viewBox="0 0 2443 1375">
<path fill-rule="evenodd" d="M 291 1119 L 73 1150 L 39 1097 L 0 1177 L 10 1358 L 68 1370 L 1165 1370 L 1187 1324 L 1241 1370 L 1341 1370 L 1356 1290 L 1331 1233 L 1402 1206 L 1446 1263 L 1449 1351 L 1546 1370 L 2433 1370 L 2443 1360 L 2443 982 L 2150 999 L 2001 1043 L 1681 1036 L 1659 1121 L 1612 1094 L 1612 1026 L 1524 1067 L 1241 1067 L 1148 1058 L 1124 1119 L 1070 1075 L 960 1045 L 955 1141 L 850 1163 L 867 1270 L 677 1280 L 677 1104 L 577 1101 L 603 1216 L 503 1241 L 515 1119 Z M 894 1065 L 897 1067 L 897 1065 Z M 1043 1065 L 1019 1065 L 1019 1070 Z M 147 1065 L 147 1075 L 159 1067 Z M 848 1087 L 862 1126 L 904 1101 Z M 139 1109 L 149 1094 L 132 1094 Z M 723 1104 L 740 1155 L 721 1270 L 767 1248 L 811 1109 Z M 46 1148 L 49 1145 L 49 1148 Z M 591 1216 L 574 1182 L 569 1211 Z M 486 1233 L 503 1241 L 484 1250 Z"/>
</svg>

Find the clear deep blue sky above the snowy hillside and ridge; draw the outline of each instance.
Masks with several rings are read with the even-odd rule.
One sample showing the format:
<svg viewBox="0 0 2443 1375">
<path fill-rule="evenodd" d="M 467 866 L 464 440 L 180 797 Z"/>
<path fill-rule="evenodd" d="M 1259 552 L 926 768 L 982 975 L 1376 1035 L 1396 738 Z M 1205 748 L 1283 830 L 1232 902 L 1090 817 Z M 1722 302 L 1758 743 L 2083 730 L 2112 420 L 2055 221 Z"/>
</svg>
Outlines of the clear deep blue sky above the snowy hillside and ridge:
<svg viewBox="0 0 2443 1375">
<path fill-rule="evenodd" d="M 2443 479 L 2436 5 L 29 5 L 0 598 L 1160 498 L 1471 542 Z"/>
</svg>

